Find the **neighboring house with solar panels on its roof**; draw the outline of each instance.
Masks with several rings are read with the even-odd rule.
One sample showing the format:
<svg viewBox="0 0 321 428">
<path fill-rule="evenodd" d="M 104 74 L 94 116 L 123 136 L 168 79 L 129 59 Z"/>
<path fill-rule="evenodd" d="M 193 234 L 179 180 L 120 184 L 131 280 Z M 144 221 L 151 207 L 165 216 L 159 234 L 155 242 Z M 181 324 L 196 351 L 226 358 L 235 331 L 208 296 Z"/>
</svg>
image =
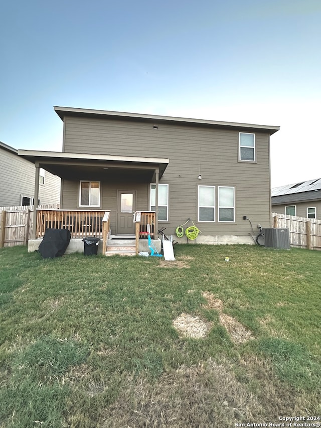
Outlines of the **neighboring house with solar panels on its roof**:
<svg viewBox="0 0 321 428">
<path fill-rule="evenodd" d="M 321 220 L 321 178 L 275 187 L 272 211 Z"/>
</svg>

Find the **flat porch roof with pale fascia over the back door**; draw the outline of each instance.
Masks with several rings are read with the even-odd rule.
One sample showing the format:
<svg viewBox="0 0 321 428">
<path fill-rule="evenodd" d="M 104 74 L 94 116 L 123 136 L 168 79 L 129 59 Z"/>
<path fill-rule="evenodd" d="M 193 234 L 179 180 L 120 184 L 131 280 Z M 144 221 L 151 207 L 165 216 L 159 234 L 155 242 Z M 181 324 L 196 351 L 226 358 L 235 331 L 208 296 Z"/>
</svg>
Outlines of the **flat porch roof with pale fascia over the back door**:
<svg viewBox="0 0 321 428">
<path fill-rule="evenodd" d="M 125 177 L 142 182 L 163 176 L 168 158 L 92 155 L 84 153 L 18 150 L 18 156 L 67 180 L 122 180 Z"/>
</svg>

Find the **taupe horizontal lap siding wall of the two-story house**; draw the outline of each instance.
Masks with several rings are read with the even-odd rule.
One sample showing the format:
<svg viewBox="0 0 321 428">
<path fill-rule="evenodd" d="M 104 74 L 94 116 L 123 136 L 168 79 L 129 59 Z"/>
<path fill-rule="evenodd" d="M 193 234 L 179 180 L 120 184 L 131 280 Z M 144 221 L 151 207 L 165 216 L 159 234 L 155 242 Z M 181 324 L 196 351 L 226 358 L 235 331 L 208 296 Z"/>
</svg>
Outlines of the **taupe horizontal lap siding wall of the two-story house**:
<svg viewBox="0 0 321 428">
<path fill-rule="evenodd" d="M 157 125 L 158 129 L 153 129 Z M 249 131 L 250 132 L 250 131 Z M 169 184 L 169 222 L 161 222 L 172 234 L 190 217 L 204 235 L 248 235 L 250 224 L 270 226 L 269 136 L 255 132 L 256 162 L 238 162 L 238 130 L 214 129 L 188 124 L 137 122 L 133 120 L 65 117 L 64 151 L 71 153 L 108 154 L 122 156 L 169 158 L 160 183 Z M 201 165 L 202 180 L 198 180 Z M 63 208 L 78 203 L 78 181 L 65 182 Z M 198 223 L 198 185 L 235 187 L 235 223 Z M 102 188 L 102 209 L 113 209 L 108 192 L 117 185 Z M 119 189 L 124 186 L 119 187 Z M 72 194 L 76 190 L 76 200 Z M 149 209 L 147 188 L 137 189 L 137 209 Z M 142 193 L 140 193 L 142 192 Z M 139 199 L 140 198 L 140 199 Z M 217 198 L 216 198 L 217 205 Z M 141 206 L 141 208 L 140 208 Z M 191 223 L 190 223 L 191 224 Z"/>
</svg>

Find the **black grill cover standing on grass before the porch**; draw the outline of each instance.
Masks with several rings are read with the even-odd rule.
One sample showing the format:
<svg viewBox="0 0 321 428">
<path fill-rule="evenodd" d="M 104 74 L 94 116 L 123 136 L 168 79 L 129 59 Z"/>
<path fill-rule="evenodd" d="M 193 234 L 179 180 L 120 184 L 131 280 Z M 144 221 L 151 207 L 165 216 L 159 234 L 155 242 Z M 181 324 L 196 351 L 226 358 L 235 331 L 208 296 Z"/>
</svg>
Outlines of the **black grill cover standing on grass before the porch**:
<svg viewBox="0 0 321 428">
<path fill-rule="evenodd" d="M 43 258 L 55 258 L 65 254 L 71 234 L 68 229 L 46 229 L 44 239 L 39 245 Z"/>
</svg>

